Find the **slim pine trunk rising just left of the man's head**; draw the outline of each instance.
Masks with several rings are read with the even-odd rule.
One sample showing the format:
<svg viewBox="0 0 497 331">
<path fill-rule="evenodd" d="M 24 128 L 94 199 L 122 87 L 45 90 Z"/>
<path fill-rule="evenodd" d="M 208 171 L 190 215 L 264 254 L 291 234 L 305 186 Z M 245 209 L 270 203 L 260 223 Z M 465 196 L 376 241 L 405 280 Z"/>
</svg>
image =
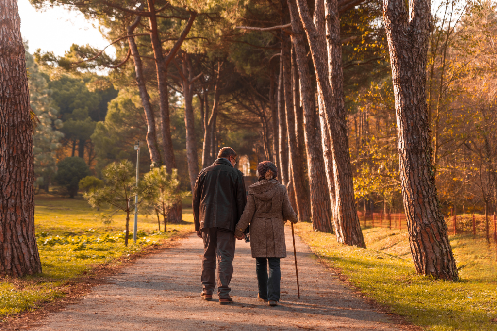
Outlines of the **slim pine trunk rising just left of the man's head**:
<svg viewBox="0 0 497 331">
<path fill-rule="evenodd" d="M 201 77 L 193 77 L 193 68 L 187 53 L 182 54 L 182 87 L 185 103 L 185 127 L 186 127 L 186 160 L 188 163 L 188 173 L 190 175 L 191 190 L 195 187 L 198 176 L 197 144 L 195 137 L 195 117 L 193 115 L 193 83 Z"/>
</svg>

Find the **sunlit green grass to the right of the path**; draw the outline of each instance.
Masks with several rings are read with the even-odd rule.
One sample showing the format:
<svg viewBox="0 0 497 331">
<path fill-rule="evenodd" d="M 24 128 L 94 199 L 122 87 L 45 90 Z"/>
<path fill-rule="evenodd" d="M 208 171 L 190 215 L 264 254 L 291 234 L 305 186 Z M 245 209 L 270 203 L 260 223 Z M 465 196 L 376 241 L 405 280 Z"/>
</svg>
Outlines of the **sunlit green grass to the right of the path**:
<svg viewBox="0 0 497 331">
<path fill-rule="evenodd" d="M 368 249 L 340 245 L 333 234 L 298 223 L 296 233 L 366 296 L 426 330 L 497 330 L 494 246 L 471 235 L 450 236 L 461 280 L 416 274 L 406 230 L 363 229 Z"/>
</svg>

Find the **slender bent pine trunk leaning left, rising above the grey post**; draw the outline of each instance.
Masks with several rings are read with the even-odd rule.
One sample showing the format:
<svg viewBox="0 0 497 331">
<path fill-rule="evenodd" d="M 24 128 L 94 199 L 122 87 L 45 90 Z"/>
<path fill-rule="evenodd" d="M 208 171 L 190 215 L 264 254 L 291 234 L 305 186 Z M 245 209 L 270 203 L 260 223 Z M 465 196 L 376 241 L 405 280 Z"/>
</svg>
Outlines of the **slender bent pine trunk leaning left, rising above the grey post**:
<svg viewBox="0 0 497 331">
<path fill-rule="evenodd" d="M 132 25 L 128 26 L 128 35 L 132 35 L 135 28 L 140 23 L 140 16 L 138 16 Z M 145 77 L 143 76 L 143 65 L 142 59 L 140 58 L 140 53 L 135 42 L 135 37 L 128 37 L 129 49 L 131 51 L 131 56 L 133 57 L 133 62 L 135 64 L 135 76 L 136 84 L 138 85 L 138 91 L 140 93 L 140 98 L 142 100 L 143 110 L 145 111 L 145 119 L 147 121 L 147 135 L 145 140 L 150 152 L 150 160 L 152 165 L 161 164 L 161 155 L 159 153 L 159 146 L 157 144 L 157 133 L 154 111 L 152 110 L 152 105 L 150 104 L 150 96 L 147 91 L 147 86 L 145 85 Z"/>
</svg>

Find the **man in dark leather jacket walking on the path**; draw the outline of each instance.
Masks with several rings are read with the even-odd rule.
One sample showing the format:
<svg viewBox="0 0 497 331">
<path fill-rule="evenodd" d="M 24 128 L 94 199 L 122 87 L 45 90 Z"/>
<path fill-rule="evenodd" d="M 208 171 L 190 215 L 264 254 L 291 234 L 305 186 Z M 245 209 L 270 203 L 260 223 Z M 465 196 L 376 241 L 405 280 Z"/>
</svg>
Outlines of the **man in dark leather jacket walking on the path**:
<svg viewBox="0 0 497 331">
<path fill-rule="evenodd" d="M 233 302 L 230 281 L 235 256 L 235 225 L 240 220 L 247 203 L 244 175 L 235 169 L 237 153 L 231 147 L 223 147 L 218 159 L 200 171 L 193 189 L 193 218 L 197 236 L 204 241 L 202 260 L 202 285 L 200 296 L 212 300 L 216 287 L 214 272 L 218 260 L 219 303 Z"/>
</svg>

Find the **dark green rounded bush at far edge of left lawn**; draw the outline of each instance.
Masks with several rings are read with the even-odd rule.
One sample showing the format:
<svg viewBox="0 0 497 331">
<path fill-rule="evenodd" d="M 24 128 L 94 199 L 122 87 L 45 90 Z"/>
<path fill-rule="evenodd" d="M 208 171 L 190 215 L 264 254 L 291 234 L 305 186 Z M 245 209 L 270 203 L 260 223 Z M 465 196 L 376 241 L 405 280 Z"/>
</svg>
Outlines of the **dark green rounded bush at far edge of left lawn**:
<svg viewBox="0 0 497 331">
<path fill-rule="evenodd" d="M 82 158 L 68 157 L 57 164 L 55 181 L 63 186 L 70 197 L 78 194 L 80 180 L 89 176 L 90 169 Z"/>
</svg>

